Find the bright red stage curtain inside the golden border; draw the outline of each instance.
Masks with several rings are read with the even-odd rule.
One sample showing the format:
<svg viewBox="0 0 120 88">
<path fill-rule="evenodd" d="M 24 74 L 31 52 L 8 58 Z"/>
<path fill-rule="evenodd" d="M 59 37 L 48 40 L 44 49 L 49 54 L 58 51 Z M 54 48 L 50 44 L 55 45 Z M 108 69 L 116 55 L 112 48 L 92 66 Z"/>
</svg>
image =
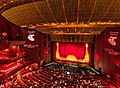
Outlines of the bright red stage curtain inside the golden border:
<svg viewBox="0 0 120 88">
<path fill-rule="evenodd" d="M 74 55 L 76 59 L 84 59 L 85 43 L 59 43 L 59 53 L 61 57 Z"/>
</svg>

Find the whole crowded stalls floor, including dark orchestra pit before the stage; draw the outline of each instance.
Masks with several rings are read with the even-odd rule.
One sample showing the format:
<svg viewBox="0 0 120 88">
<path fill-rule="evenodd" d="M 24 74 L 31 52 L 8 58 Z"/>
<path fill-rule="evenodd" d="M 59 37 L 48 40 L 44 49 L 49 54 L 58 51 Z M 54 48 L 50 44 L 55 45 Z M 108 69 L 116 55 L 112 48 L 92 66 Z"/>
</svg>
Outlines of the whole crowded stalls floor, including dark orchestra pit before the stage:
<svg viewBox="0 0 120 88">
<path fill-rule="evenodd" d="M 106 88 L 107 84 L 92 67 L 50 64 L 38 67 L 37 63 L 29 64 L 12 76 L 8 76 L 0 88 Z M 66 68 L 67 67 L 67 70 Z M 70 71 L 71 70 L 71 71 Z M 69 72 L 70 71 L 70 72 Z M 94 73 L 94 74 L 93 74 Z"/>
</svg>

